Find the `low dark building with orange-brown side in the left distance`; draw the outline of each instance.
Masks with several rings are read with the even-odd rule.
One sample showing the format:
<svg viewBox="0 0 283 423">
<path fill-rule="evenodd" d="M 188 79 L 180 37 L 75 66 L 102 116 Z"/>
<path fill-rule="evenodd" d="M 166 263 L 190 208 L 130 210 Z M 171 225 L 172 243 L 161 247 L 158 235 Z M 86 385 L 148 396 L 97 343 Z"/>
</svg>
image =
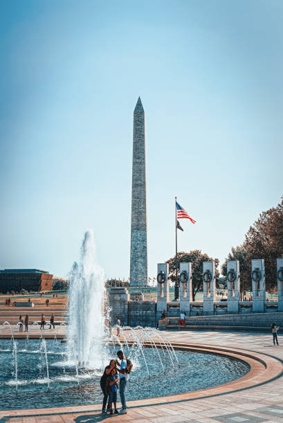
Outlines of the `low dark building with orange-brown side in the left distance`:
<svg viewBox="0 0 283 423">
<path fill-rule="evenodd" d="M 53 274 L 39 269 L 0 270 L 0 292 L 52 291 Z"/>
</svg>

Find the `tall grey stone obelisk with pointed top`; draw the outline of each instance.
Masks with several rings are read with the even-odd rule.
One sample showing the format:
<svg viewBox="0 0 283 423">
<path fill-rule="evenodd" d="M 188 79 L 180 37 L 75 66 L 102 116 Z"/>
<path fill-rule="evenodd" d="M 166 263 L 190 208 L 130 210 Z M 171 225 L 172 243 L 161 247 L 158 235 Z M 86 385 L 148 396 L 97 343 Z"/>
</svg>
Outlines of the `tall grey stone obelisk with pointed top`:
<svg viewBox="0 0 283 423">
<path fill-rule="evenodd" d="M 134 110 L 131 181 L 130 286 L 147 285 L 147 187 L 145 177 L 145 112 L 138 97 Z"/>
</svg>

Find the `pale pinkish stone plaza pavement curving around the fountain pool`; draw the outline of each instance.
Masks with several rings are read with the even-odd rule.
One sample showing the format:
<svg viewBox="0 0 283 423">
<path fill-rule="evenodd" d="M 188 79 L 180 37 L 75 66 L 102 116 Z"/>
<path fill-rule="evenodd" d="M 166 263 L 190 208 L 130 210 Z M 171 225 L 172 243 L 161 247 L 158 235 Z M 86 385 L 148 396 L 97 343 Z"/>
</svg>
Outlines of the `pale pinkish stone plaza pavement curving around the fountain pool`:
<svg viewBox="0 0 283 423">
<path fill-rule="evenodd" d="M 283 422 L 283 337 L 282 346 L 273 346 L 272 334 L 228 331 L 167 331 L 174 344 L 188 346 L 216 346 L 227 350 L 262 357 L 257 368 L 265 373 L 264 378 L 253 377 L 253 385 L 237 382 L 218 388 L 195 391 L 187 395 L 174 395 L 158 399 L 127 402 L 127 415 L 100 413 L 101 404 L 37 410 L 0 411 L 0 423 L 91 423 L 111 422 Z M 264 364 L 264 362 L 267 363 Z M 203 369 L 205 371 L 205 369 Z M 250 373 L 252 373 L 251 370 Z M 267 375 L 266 375 L 267 373 Z M 270 377 L 268 377 L 268 375 Z M 269 378 L 269 380 L 268 380 Z M 246 385 L 245 385 L 246 383 Z M 251 382 L 250 382 L 251 383 Z M 237 388 L 235 388 L 237 386 Z M 226 393 L 227 392 L 227 393 Z"/>
</svg>

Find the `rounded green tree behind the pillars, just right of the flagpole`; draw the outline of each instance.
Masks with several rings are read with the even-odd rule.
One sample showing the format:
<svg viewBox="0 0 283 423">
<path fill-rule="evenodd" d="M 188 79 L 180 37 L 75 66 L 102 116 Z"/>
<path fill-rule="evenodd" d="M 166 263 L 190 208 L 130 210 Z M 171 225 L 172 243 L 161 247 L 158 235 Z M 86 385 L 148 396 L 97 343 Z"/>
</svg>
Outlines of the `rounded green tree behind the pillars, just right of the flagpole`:
<svg viewBox="0 0 283 423">
<path fill-rule="evenodd" d="M 180 263 L 192 263 L 192 301 L 194 301 L 197 292 L 203 290 L 203 261 L 215 262 L 216 276 L 219 277 L 217 267 L 219 259 L 212 259 L 208 254 L 202 254 L 201 250 L 193 250 L 190 252 L 179 252 L 177 254 L 178 270 Z M 169 279 L 172 282 L 176 281 L 176 256 L 167 260 L 169 264 Z"/>
</svg>

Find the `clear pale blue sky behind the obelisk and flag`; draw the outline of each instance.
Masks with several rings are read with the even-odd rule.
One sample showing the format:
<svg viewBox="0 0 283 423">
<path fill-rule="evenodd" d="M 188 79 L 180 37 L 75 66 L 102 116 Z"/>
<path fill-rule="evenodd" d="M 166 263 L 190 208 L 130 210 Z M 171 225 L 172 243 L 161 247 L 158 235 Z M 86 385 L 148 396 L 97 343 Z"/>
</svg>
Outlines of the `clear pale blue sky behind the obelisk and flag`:
<svg viewBox="0 0 283 423">
<path fill-rule="evenodd" d="M 147 143 L 149 276 L 222 262 L 282 195 L 282 0 L 1 0 L 0 266 L 66 276 L 93 228 L 129 276 L 133 111 Z"/>
</svg>

